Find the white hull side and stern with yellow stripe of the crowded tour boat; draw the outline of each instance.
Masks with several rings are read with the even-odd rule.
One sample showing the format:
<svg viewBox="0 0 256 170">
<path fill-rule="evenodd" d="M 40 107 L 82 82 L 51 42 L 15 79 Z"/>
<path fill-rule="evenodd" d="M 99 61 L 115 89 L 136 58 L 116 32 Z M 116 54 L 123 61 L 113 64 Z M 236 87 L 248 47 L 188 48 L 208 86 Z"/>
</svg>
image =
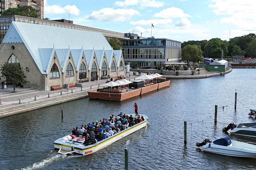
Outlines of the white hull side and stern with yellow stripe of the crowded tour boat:
<svg viewBox="0 0 256 170">
<path fill-rule="evenodd" d="M 147 125 L 147 120 L 141 122 L 140 124 L 137 124 L 136 126 L 130 127 L 124 131 L 121 131 L 119 133 L 116 133 L 113 136 L 108 137 L 107 139 L 104 139 L 94 145 L 89 145 L 85 146 L 82 143 L 80 145 L 74 145 L 72 143 L 62 141 L 62 138 L 57 139 L 54 142 L 54 148 L 55 149 L 61 149 L 64 150 L 65 152 L 72 152 L 72 153 L 77 153 L 81 155 L 89 155 L 91 153 L 94 153 L 100 149 L 103 149 L 104 147 L 114 143 L 115 141 L 122 139 L 123 137 L 141 129 L 144 128 Z M 60 152 L 59 152 L 60 153 Z M 65 154 L 65 153 L 62 153 Z"/>
</svg>

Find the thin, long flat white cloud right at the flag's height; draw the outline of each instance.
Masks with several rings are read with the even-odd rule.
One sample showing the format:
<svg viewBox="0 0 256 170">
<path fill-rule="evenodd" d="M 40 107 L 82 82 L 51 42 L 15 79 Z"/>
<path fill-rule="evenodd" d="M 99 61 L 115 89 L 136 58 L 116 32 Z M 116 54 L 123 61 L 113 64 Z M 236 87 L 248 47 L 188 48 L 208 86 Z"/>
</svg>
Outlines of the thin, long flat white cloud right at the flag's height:
<svg viewBox="0 0 256 170">
<path fill-rule="evenodd" d="M 154 20 L 140 20 L 140 21 L 131 21 L 131 25 L 148 25 L 151 27 L 151 23 L 153 23 L 154 26 L 164 26 L 169 25 L 172 23 L 172 19 L 154 19 Z"/>
</svg>

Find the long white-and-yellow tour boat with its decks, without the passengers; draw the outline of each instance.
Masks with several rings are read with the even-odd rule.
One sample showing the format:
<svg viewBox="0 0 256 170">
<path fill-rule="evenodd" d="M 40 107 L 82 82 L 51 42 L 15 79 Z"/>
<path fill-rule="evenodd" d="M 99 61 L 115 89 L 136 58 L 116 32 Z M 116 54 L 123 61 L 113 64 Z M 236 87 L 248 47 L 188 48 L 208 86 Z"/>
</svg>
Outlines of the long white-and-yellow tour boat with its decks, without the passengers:
<svg viewBox="0 0 256 170">
<path fill-rule="evenodd" d="M 112 136 L 109 136 L 106 139 L 103 139 L 101 141 L 95 140 L 95 144 L 91 145 L 84 145 L 84 138 L 81 137 L 76 137 L 72 139 L 71 134 L 64 136 L 62 138 L 59 138 L 53 142 L 54 148 L 58 149 L 58 153 L 60 154 L 72 154 L 72 153 L 77 153 L 81 155 L 88 155 L 91 153 L 94 153 L 111 143 L 141 129 L 144 128 L 147 125 L 148 117 L 145 115 L 141 115 L 144 117 L 144 121 L 140 122 L 138 124 L 135 124 L 132 127 L 129 127 L 125 130 L 122 130 Z"/>
</svg>

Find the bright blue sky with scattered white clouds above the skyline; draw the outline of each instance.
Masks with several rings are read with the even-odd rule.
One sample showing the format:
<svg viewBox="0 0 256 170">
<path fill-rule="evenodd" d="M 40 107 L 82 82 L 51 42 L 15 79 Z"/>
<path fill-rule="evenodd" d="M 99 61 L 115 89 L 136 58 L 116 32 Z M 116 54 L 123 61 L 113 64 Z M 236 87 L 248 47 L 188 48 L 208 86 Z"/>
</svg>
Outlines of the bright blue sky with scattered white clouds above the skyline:
<svg viewBox="0 0 256 170">
<path fill-rule="evenodd" d="M 222 40 L 256 32 L 254 0 L 45 0 L 45 17 L 177 41 Z"/>
</svg>

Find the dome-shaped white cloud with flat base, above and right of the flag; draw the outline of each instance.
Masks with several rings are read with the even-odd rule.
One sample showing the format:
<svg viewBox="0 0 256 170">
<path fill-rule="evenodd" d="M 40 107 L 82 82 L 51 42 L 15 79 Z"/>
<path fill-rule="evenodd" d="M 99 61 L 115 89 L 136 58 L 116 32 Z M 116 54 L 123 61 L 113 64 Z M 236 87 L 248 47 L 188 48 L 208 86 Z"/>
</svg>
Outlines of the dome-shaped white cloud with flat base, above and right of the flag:
<svg viewBox="0 0 256 170">
<path fill-rule="evenodd" d="M 163 9 L 159 13 L 156 13 L 154 17 L 157 18 L 186 18 L 191 17 L 189 14 L 185 14 L 182 9 L 177 7 L 170 7 Z"/>
</svg>

